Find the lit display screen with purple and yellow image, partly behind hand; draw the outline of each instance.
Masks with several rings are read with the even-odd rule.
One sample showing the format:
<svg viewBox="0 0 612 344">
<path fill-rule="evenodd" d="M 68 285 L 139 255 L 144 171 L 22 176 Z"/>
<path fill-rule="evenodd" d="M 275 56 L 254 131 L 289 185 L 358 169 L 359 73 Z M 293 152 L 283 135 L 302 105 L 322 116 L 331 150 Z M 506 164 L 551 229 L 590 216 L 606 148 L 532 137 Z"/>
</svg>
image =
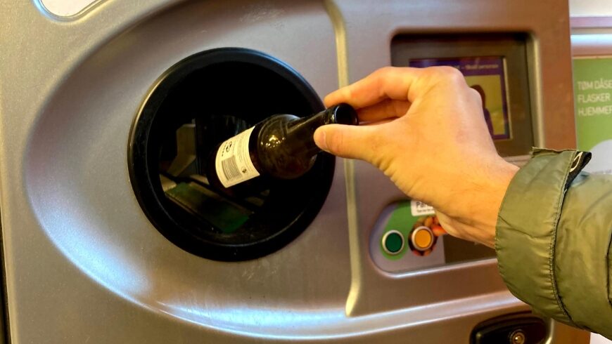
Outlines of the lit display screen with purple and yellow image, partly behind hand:
<svg viewBox="0 0 612 344">
<path fill-rule="evenodd" d="M 478 91 L 483 99 L 483 112 L 491 137 L 494 140 L 508 140 L 511 137 L 504 58 L 423 58 L 410 60 L 409 66 L 457 68 L 464 74 L 467 84 Z"/>
</svg>

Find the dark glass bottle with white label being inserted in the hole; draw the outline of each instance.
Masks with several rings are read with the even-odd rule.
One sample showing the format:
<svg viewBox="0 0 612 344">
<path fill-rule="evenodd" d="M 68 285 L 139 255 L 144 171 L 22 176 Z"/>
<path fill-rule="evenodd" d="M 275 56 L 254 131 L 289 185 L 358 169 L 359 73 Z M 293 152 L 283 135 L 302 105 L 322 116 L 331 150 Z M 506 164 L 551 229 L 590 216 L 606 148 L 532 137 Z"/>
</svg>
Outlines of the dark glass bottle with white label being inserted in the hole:
<svg viewBox="0 0 612 344">
<path fill-rule="evenodd" d="M 358 123 L 357 112 L 348 104 L 303 118 L 276 114 L 218 145 L 210 154 L 207 178 L 225 188 L 258 176 L 298 178 L 312 168 L 321 152 L 313 137 L 319 126 Z"/>
</svg>

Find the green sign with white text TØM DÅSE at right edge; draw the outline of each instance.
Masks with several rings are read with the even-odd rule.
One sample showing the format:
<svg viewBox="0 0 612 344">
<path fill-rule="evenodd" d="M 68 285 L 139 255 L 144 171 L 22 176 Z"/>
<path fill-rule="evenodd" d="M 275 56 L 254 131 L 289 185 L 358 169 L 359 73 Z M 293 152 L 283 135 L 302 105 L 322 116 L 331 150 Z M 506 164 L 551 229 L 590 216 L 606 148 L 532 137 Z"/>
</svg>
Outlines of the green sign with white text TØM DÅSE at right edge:
<svg viewBox="0 0 612 344">
<path fill-rule="evenodd" d="M 612 173 L 612 58 L 573 60 L 578 149 L 593 153 L 587 170 Z"/>
</svg>

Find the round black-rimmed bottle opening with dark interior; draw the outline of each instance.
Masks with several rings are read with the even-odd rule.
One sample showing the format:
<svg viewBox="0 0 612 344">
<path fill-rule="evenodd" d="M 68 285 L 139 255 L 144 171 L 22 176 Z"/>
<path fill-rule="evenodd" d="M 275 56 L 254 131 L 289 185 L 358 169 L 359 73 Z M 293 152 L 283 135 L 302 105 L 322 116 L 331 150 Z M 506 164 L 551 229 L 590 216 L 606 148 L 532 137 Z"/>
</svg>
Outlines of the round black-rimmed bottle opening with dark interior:
<svg viewBox="0 0 612 344">
<path fill-rule="evenodd" d="M 291 67 L 243 48 L 191 55 L 170 67 L 132 126 L 128 166 L 151 223 L 182 249 L 213 260 L 248 260 L 285 246 L 323 205 L 335 158 L 319 153 L 297 179 L 258 177 L 221 192 L 208 183 L 215 147 L 273 114 L 324 109 Z"/>
</svg>

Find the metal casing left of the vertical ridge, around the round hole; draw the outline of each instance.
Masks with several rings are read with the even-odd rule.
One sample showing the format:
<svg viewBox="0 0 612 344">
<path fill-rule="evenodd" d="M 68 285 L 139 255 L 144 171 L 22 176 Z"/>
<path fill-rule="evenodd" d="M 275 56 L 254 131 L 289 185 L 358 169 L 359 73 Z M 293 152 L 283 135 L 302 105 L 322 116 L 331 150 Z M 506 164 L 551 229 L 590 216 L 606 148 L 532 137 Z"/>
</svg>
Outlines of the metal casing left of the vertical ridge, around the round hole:
<svg viewBox="0 0 612 344">
<path fill-rule="evenodd" d="M 341 168 L 325 211 L 298 240 L 260 260 L 219 263 L 153 228 L 126 163 L 149 88 L 198 51 L 255 48 L 288 62 L 319 94 L 332 91 L 336 51 L 321 4 L 109 1 L 68 23 L 28 3 L 11 9 L 6 18 L 32 25 L 11 32 L 3 65 L 13 67 L 1 74 L 18 80 L 3 82 L 1 110 L 11 142 L 1 147 L 2 195 L 16 343 L 326 336 L 318 323 L 343 319 L 348 240 L 330 232 L 346 227 Z"/>
</svg>

